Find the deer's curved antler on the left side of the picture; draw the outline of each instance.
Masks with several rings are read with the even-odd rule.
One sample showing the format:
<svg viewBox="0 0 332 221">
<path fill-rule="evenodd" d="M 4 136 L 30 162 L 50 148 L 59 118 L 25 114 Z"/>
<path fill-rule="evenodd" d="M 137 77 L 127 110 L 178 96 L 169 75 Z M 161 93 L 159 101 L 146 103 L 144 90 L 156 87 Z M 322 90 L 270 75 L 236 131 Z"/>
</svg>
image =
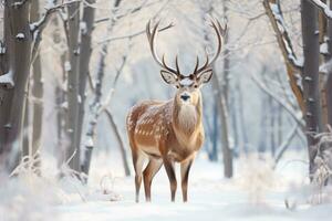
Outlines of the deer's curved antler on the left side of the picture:
<svg viewBox="0 0 332 221">
<path fill-rule="evenodd" d="M 149 49 L 151 49 L 152 55 L 153 55 L 154 60 L 159 64 L 159 66 L 162 66 L 162 69 L 167 70 L 168 72 L 172 72 L 172 73 L 176 74 L 178 77 L 180 77 L 181 74 L 180 74 L 180 71 L 179 71 L 177 56 L 175 59 L 176 70 L 174 70 L 174 69 L 169 67 L 166 64 L 165 54 L 163 55 L 162 60 L 158 57 L 157 50 L 154 45 L 155 36 L 156 36 L 157 31 L 159 32 L 159 31 L 164 31 L 166 29 L 169 29 L 169 28 L 173 27 L 173 23 L 170 23 L 169 25 L 167 25 L 166 28 L 163 28 L 160 30 L 158 30 L 158 25 L 159 25 L 159 22 L 157 22 L 154 25 L 153 30 L 151 31 L 151 21 L 148 21 L 147 24 L 146 24 L 146 35 L 147 35 L 147 40 L 148 40 L 148 43 L 149 43 Z"/>
</svg>

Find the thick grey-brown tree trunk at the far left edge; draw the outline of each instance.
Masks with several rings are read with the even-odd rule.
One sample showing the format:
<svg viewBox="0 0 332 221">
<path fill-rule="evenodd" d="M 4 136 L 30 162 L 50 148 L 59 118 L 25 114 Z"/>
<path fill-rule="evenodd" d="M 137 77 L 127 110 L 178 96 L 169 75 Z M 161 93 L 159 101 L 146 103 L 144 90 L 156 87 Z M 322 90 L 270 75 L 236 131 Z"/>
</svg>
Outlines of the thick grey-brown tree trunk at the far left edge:
<svg viewBox="0 0 332 221">
<path fill-rule="evenodd" d="M 25 109 L 25 86 L 30 74 L 32 36 L 29 25 L 30 1 L 18 0 L 4 2 L 6 53 L 8 53 L 8 77 L 12 80 L 2 87 L 0 110 L 0 164 L 8 152 L 17 152 L 21 148 L 21 131 Z M 10 27 L 10 28 L 9 28 Z M 3 82 L 2 82 L 3 83 Z M 3 84 L 1 84 L 3 86 Z M 8 161 L 9 162 L 9 161 Z M 10 164 L 10 162 L 9 162 Z M 13 165 L 9 165 L 12 167 Z"/>
</svg>

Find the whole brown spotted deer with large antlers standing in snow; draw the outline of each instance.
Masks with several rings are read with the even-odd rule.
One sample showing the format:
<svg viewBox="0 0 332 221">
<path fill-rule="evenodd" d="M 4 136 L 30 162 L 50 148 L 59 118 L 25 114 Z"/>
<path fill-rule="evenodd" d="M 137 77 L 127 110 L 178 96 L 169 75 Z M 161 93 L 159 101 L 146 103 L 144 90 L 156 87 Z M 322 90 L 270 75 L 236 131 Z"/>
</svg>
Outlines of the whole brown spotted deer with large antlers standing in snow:
<svg viewBox="0 0 332 221">
<path fill-rule="evenodd" d="M 187 202 L 189 170 L 205 139 L 200 88 L 211 80 L 212 64 L 221 52 L 221 38 L 226 33 L 227 25 L 222 28 L 218 20 L 211 20 L 210 25 L 218 41 L 215 55 L 209 59 L 205 50 L 205 63 L 200 66 L 197 55 L 194 72 L 183 75 L 177 55 L 176 69 L 166 64 L 165 54 L 162 59 L 158 56 L 155 36 L 159 22 L 153 29 L 151 23 L 148 21 L 146 24 L 146 35 L 153 59 L 160 66 L 162 78 L 175 86 L 176 92 L 169 101 L 139 102 L 127 114 L 126 130 L 135 170 L 136 202 L 139 201 L 142 178 L 145 200 L 151 201 L 152 181 L 163 165 L 169 179 L 170 200 L 175 201 L 177 189 L 175 162 L 180 164 L 183 201 Z M 147 166 L 144 168 L 146 160 Z"/>
</svg>

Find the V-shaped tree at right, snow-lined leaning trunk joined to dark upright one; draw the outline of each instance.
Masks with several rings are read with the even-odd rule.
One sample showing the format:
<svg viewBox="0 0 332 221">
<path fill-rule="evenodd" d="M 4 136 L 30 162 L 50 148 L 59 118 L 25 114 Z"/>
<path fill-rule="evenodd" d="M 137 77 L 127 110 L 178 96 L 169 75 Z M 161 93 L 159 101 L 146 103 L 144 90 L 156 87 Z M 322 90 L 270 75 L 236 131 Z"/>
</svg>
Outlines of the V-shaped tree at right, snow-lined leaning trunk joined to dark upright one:
<svg viewBox="0 0 332 221">
<path fill-rule="evenodd" d="M 263 6 L 277 35 L 282 52 L 290 86 L 298 101 L 305 120 L 305 135 L 309 151 L 309 172 L 314 171 L 314 157 L 317 155 L 315 135 L 323 130 L 321 94 L 319 82 L 319 34 L 318 9 L 308 0 L 301 1 L 301 24 L 303 41 L 303 64 L 297 59 L 282 17 L 279 1 L 264 0 Z M 303 86 L 302 86 L 302 84 Z"/>
</svg>

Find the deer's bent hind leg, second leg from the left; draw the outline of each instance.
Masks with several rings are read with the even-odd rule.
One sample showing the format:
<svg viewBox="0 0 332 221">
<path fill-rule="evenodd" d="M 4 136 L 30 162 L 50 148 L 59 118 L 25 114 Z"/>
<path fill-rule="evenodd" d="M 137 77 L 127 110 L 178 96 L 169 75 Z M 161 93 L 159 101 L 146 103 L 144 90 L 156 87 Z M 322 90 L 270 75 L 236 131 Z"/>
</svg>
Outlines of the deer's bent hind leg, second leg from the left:
<svg viewBox="0 0 332 221">
<path fill-rule="evenodd" d="M 151 201 L 151 183 L 163 165 L 162 159 L 151 159 L 143 172 L 145 200 Z"/>
</svg>

